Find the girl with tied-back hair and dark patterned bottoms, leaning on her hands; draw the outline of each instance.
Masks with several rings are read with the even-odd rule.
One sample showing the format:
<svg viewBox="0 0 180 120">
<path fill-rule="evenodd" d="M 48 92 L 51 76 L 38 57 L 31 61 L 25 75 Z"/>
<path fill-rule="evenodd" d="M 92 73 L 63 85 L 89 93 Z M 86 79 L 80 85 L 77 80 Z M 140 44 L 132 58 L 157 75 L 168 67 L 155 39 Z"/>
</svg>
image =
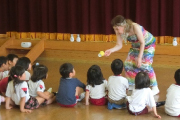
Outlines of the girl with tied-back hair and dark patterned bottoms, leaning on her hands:
<svg viewBox="0 0 180 120">
<path fill-rule="evenodd" d="M 6 109 L 11 109 L 14 105 L 20 105 L 21 112 L 31 112 L 29 109 L 38 108 L 45 99 L 41 97 L 29 96 L 29 89 L 25 70 L 22 66 L 12 67 L 10 77 L 13 79 L 8 83 L 6 91 Z"/>
</svg>

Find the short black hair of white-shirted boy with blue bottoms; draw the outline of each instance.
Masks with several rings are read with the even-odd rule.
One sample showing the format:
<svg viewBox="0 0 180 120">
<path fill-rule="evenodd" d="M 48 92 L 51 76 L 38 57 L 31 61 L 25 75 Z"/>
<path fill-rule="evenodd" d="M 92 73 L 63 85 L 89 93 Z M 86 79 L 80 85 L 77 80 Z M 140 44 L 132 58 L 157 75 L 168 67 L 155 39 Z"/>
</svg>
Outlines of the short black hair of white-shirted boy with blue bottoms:
<svg viewBox="0 0 180 120">
<path fill-rule="evenodd" d="M 120 59 L 115 59 L 111 63 L 111 70 L 114 75 L 120 75 L 123 70 L 123 61 Z"/>
</svg>

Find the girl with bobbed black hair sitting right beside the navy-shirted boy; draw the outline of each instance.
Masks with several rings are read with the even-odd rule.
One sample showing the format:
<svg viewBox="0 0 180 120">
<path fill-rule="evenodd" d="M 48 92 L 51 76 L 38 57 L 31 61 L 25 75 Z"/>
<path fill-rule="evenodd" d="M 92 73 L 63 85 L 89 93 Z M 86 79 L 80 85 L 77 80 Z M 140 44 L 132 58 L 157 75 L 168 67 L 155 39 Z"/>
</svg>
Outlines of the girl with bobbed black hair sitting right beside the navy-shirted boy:
<svg viewBox="0 0 180 120">
<path fill-rule="evenodd" d="M 87 72 L 86 86 L 86 105 L 105 105 L 107 81 L 103 78 L 101 68 L 98 65 L 92 65 Z"/>
</svg>

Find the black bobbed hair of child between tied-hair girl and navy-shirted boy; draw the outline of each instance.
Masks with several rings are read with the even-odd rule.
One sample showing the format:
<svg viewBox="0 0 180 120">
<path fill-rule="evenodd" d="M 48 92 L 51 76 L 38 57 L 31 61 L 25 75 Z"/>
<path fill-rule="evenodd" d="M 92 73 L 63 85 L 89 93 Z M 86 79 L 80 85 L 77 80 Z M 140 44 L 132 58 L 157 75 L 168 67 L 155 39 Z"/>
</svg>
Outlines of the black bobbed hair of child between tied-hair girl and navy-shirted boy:
<svg viewBox="0 0 180 120">
<path fill-rule="evenodd" d="M 42 79 L 46 79 L 48 68 L 44 65 L 38 65 L 34 68 L 31 80 L 37 82 Z"/>
</svg>

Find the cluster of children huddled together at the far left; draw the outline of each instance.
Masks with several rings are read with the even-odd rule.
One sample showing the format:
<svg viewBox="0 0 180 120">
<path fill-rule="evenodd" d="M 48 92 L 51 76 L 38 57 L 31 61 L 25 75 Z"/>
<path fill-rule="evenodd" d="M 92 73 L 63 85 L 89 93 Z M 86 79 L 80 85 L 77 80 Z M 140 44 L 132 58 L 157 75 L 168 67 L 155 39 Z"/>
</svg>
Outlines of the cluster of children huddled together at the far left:
<svg viewBox="0 0 180 120">
<path fill-rule="evenodd" d="M 10 60 L 9 57 L 12 59 Z M 18 58 L 14 54 L 0 57 L 2 79 L 0 80 L 0 102 L 5 102 L 6 109 L 14 105 L 20 107 L 21 112 L 31 112 L 40 105 L 55 101 L 55 94 L 45 91 L 43 80 L 48 76 L 48 69 L 44 65 L 33 65 L 27 57 Z M 4 74 L 7 73 L 7 74 Z M 5 98 L 6 97 L 6 100 Z"/>
</svg>

